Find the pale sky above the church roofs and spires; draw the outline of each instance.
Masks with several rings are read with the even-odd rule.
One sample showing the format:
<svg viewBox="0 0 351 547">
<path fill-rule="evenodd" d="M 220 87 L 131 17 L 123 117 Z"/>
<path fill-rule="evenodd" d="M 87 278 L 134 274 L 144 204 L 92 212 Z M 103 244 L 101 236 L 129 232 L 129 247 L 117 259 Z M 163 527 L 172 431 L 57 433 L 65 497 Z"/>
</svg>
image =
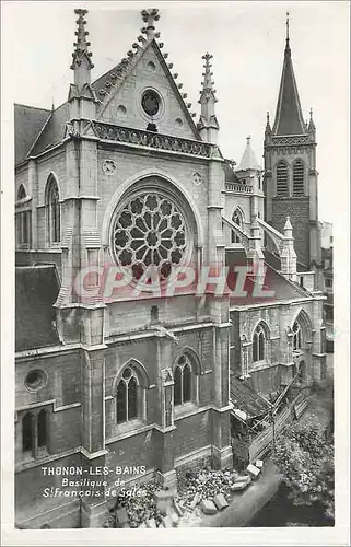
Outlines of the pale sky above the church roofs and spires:
<svg viewBox="0 0 351 547">
<path fill-rule="evenodd" d="M 92 79 L 125 57 L 140 34 L 140 2 L 2 2 L 2 56 L 13 102 L 59 106 L 67 100 L 73 51 L 74 8 L 86 8 L 92 44 Z M 262 164 L 266 113 L 276 114 L 290 12 L 292 59 L 304 117 L 311 107 L 317 128 L 319 220 L 334 222 L 349 178 L 349 4 L 348 2 L 246 1 L 155 2 L 156 31 L 177 82 L 199 114 L 202 55 L 213 55 L 219 143 L 239 162 L 246 137 Z M 159 40 L 159 42 L 160 42 Z M 196 118 L 197 119 L 197 118 Z M 341 200 L 341 202 L 340 202 Z"/>
</svg>

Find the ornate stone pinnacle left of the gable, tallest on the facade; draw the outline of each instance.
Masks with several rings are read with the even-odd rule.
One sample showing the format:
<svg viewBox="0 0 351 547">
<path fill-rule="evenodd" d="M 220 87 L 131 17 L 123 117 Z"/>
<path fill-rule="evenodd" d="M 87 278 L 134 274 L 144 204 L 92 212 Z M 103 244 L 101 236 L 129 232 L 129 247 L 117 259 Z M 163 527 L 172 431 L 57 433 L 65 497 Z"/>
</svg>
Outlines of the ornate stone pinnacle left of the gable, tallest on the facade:
<svg viewBox="0 0 351 547">
<path fill-rule="evenodd" d="M 90 71 L 94 68 L 94 65 L 91 61 L 92 53 L 89 51 L 90 42 L 86 40 L 86 36 L 89 36 L 89 32 L 85 31 L 85 15 L 87 10 L 77 9 L 74 10 L 75 15 L 78 15 L 77 25 L 78 30 L 75 31 L 77 42 L 74 42 L 74 51 L 72 53 L 72 65 L 71 69 L 74 70 L 74 84 L 78 88 L 81 88 L 85 83 L 90 83 Z"/>
</svg>

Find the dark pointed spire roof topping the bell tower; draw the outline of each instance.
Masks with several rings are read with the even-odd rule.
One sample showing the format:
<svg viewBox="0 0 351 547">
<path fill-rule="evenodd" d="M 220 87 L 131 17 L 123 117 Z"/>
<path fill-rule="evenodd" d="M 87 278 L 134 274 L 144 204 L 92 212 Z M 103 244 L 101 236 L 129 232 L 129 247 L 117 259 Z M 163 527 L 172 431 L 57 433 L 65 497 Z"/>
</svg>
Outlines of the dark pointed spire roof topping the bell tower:
<svg viewBox="0 0 351 547">
<path fill-rule="evenodd" d="M 302 135 L 306 133 L 299 91 L 291 59 L 289 37 L 289 14 L 286 19 L 286 45 L 284 62 L 278 96 L 273 135 Z"/>
</svg>

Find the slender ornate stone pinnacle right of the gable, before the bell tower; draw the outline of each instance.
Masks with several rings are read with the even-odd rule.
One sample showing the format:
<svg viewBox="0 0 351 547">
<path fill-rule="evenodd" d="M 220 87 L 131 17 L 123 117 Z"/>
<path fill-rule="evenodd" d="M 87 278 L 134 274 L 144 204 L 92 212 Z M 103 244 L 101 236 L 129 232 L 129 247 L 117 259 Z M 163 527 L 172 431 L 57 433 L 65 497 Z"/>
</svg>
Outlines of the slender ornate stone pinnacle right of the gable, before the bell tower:
<svg viewBox="0 0 351 547">
<path fill-rule="evenodd" d="M 204 72 L 202 72 L 203 82 L 199 98 L 201 115 L 198 129 L 203 140 L 215 143 L 220 126 L 214 114 L 214 104 L 218 102 L 218 98 L 215 97 L 214 82 L 212 81 L 213 72 L 211 72 L 212 65 L 210 63 L 212 58 L 213 56 L 209 53 L 202 56 Z"/>
</svg>

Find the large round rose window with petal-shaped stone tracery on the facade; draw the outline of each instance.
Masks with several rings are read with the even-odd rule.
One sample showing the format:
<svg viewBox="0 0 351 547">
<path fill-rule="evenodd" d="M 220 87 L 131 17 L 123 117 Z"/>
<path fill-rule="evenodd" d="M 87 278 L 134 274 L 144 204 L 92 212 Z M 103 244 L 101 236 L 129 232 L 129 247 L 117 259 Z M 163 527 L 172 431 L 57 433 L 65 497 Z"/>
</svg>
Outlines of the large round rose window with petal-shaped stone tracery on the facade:
<svg viewBox="0 0 351 547">
<path fill-rule="evenodd" d="M 130 199 L 115 221 L 113 236 L 118 264 L 130 266 L 134 279 L 151 265 L 166 279 L 186 252 L 184 217 L 173 201 L 156 193 Z"/>
</svg>

